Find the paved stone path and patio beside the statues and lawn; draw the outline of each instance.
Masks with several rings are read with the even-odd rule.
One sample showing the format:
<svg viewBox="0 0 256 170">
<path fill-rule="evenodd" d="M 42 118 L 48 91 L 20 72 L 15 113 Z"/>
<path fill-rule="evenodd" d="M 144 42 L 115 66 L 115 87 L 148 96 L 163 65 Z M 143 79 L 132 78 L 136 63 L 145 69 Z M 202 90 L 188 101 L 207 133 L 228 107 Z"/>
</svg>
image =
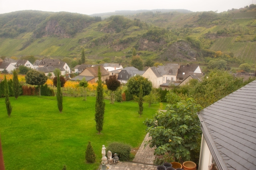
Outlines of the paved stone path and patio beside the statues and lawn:
<svg viewBox="0 0 256 170">
<path fill-rule="evenodd" d="M 144 148 L 145 141 L 148 141 L 150 137 L 146 134 L 138 152 L 136 153 L 133 162 L 118 162 L 115 164 L 108 164 L 109 170 L 156 170 L 155 165 L 153 165 L 155 155 L 154 148 L 146 146 Z"/>
</svg>

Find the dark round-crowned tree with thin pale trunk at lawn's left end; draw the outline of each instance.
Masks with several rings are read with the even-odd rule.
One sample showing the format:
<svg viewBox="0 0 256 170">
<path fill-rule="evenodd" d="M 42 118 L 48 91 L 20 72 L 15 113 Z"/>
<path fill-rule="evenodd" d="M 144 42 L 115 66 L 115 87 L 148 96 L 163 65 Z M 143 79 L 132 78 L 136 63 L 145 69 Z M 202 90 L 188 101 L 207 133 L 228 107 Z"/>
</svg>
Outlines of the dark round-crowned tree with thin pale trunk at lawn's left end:
<svg viewBox="0 0 256 170">
<path fill-rule="evenodd" d="M 38 85 L 39 95 L 41 95 L 40 86 L 47 81 L 47 77 L 44 73 L 36 71 L 34 69 L 28 71 L 25 76 L 26 83 L 30 85 Z"/>
</svg>

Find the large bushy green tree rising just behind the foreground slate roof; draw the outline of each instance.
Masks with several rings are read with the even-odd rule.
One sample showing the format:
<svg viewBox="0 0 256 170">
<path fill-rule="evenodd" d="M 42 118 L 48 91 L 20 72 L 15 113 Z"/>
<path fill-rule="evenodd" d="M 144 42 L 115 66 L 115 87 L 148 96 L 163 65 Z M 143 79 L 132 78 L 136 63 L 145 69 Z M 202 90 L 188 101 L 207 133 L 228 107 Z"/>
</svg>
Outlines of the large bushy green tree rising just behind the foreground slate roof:
<svg viewBox="0 0 256 170">
<path fill-rule="evenodd" d="M 252 81 L 252 80 L 250 80 Z M 249 83 L 246 81 L 245 83 Z M 203 108 L 246 85 L 224 70 L 214 69 L 190 90 L 190 96 Z"/>
</svg>

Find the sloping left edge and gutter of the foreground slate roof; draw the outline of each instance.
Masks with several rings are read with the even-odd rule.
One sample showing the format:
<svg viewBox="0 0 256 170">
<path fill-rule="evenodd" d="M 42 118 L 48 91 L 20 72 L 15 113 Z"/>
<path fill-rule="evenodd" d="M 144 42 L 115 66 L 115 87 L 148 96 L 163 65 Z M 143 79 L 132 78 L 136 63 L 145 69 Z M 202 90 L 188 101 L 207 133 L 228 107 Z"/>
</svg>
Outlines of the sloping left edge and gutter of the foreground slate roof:
<svg viewBox="0 0 256 170">
<path fill-rule="evenodd" d="M 206 141 L 206 144 L 212 154 L 212 157 L 216 163 L 216 166 L 218 168 L 218 170 L 228 170 L 224 160 L 222 159 L 222 156 L 220 155 L 220 152 L 218 151 L 218 149 L 216 148 L 216 145 L 214 144 L 214 146 L 212 145 L 212 143 L 214 143 L 214 141 L 212 140 L 212 137 L 204 123 L 204 120 L 202 119 L 200 113 L 197 113 L 198 118 L 200 120 L 200 127 L 202 129 L 202 133 L 204 135 L 204 139 Z"/>
</svg>

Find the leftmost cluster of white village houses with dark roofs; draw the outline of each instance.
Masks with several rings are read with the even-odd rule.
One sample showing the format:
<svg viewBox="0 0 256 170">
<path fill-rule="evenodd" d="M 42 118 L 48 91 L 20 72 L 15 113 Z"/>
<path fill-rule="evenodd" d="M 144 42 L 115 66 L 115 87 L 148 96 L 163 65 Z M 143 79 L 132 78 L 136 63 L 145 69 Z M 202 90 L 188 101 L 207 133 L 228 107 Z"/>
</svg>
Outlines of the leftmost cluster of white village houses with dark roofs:
<svg viewBox="0 0 256 170">
<path fill-rule="evenodd" d="M 9 73 L 11 73 L 14 69 L 19 68 L 20 66 L 29 67 L 31 69 L 36 69 L 48 75 L 52 73 L 52 77 L 54 77 L 53 71 L 57 68 L 60 69 L 61 75 L 65 75 L 66 73 L 70 73 L 70 67 L 64 61 L 60 59 L 42 59 L 36 60 L 34 64 L 30 63 L 28 60 L 14 60 L 11 58 L 5 58 L 4 61 L 0 59 L 0 71 L 6 69 Z"/>
</svg>

